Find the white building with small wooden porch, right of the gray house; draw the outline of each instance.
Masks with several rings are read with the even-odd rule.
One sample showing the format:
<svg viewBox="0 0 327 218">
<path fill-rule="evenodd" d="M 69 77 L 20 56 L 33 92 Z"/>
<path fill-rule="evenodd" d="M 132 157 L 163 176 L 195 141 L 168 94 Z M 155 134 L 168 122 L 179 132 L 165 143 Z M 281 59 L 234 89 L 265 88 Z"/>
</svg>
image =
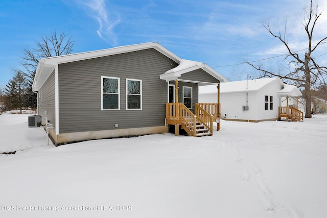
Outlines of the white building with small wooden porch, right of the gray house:
<svg viewBox="0 0 327 218">
<path fill-rule="evenodd" d="M 221 83 L 221 117 L 246 122 L 277 120 L 282 97 L 300 95 L 296 86 L 284 84 L 279 78 Z M 217 101 L 217 85 L 199 87 L 200 103 Z"/>
</svg>

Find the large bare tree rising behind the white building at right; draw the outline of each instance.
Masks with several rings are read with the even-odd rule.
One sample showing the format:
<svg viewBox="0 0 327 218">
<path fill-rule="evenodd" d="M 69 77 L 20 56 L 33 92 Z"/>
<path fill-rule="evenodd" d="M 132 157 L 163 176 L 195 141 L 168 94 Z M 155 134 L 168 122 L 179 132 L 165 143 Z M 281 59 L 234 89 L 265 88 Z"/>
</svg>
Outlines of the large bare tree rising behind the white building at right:
<svg viewBox="0 0 327 218">
<path fill-rule="evenodd" d="M 285 60 L 289 60 L 289 65 L 293 67 L 287 67 L 289 69 L 288 73 L 281 74 L 280 71 L 273 72 L 271 70 L 263 69 L 263 65 L 254 65 L 248 61 L 249 65 L 254 67 L 255 69 L 261 72 L 261 77 L 279 77 L 282 80 L 291 81 L 297 87 L 303 87 L 305 89 L 305 100 L 306 100 L 306 118 L 311 118 L 311 88 L 316 84 L 324 83 L 324 80 L 327 76 L 327 67 L 320 66 L 312 57 L 312 53 L 319 47 L 321 44 L 325 43 L 324 41 L 327 37 L 324 37 L 320 40 L 314 40 L 313 33 L 314 29 L 317 25 L 317 21 L 321 16 L 321 12 L 318 12 L 318 4 L 316 7 L 312 5 L 312 1 L 310 1 L 310 10 L 304 10 L 304 21 L 301 23 L 306 31 L 306 35 L 308 37 L 308 48 L 304 54 L 304 57 L 300 57 L 301 54 L 298 51 L 293 51 L 287 41 L 286 38 L 286 25 L 284 31 L 279 30 L 277 34 L 275 34 L 269 22 L 264 24 L 266 30 L 275 38 L 281 41 L 287 51 L 288 55 Z"/>
</svg>

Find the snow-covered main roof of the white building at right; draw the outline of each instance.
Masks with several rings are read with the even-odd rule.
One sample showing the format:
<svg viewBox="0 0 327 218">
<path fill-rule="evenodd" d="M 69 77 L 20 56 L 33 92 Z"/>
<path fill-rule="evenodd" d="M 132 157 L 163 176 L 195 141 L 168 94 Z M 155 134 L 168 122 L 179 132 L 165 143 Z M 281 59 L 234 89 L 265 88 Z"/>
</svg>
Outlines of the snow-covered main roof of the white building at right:
<svg viewBox="0 0 327 218">
<path fill-rule="evenodd" d="M 271 83 L 275 80 L 278 81 L 278 83 L 280 83 L 281 85 L 284 84 L 283 81 L 279 78 L 263 78 L 247 81 L 233 81 L 220 84 L 220 93 L 258 91 L 262 87 L 266 86 L 268 83 Z M 203 86 L 200 89 L 200 93 L 217 93 L 217 85 Z"/>
</svg>

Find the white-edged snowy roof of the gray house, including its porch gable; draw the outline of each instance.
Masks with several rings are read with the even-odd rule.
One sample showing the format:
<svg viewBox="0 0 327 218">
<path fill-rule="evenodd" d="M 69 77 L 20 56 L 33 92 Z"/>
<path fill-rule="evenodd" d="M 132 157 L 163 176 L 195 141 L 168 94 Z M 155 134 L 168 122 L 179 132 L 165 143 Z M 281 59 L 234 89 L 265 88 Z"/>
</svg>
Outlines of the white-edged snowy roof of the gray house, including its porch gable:
<svg viewBox="0 0 327 218">
<path fill-rule="evenodd" d="M 32 90 L 38 91 L 41 86 L 44 84 L 46 79 L 49 78 L 53 70 L 58 66 L 58 64 L 62 63 L 69 63 L 74 61 L 80 61 L 80 60 L 86 60 L 91 58 L 99 58 L 104 56 L 110 56 L 110 55 L 116 55 L 116 54 L 123 54 L 128 52 L 134 52 L 134 51 L 140 51 L 145 49 L 155 49 L 161 54 L 164 54 L 168 58 L 172 59 L 176 63 L 180 64 L 179 68 L 174 68 L 175 72 L 165 72 L 165 74 L 160 75 L 160 79 L 167 80 L 168 77 L 171 75 L 179 75 L 183 74 L 185 72 L 190 72 L 195 69 L 202 68 L 204 69 L 208 74 L 212 75 L 216 79 L 220 81 L 227 81 L 226 78 L 224 78 L 222 75 L 220 75 L 217 71 L 212 69 L 211 67 L 207 66 L 204 63 L 198 64 L 200 62 L 195 61 L 185 61 L 188 63 L 192 63 L 196 65 L 196 67 L 184 67 L 183 61 L 181 58 L 170 52 L 169 50 L 165 49 L 165 47 L 161 46 L 157 42 L 148 42 L 148 43 L 142 43 L 142 44 L 134 44 L 134 45 L 127 45 L 127 46 L 120 46 L 120 47 L 113 47 L 111 49 L 105 49 L 105 50 L 98 50 L 98 51 L 91 51 L 91 52 L 83 52 L 83 53 L 76 53 L 76 54 L 69 54 L 69 55 L 63 55 L 63 56 L 56 56 L 56 57 L 50 57 L 50 58 L 42 58 L 39 61 L 39 64 L 36 69 L 36 74 L 34 77 Z M 189 65 L 189 64 L 186 64 Z M 182 70 L 181 70 L 182 69 Z M 162 76 L 162 78 L 161 78 Z"/>
</svg>

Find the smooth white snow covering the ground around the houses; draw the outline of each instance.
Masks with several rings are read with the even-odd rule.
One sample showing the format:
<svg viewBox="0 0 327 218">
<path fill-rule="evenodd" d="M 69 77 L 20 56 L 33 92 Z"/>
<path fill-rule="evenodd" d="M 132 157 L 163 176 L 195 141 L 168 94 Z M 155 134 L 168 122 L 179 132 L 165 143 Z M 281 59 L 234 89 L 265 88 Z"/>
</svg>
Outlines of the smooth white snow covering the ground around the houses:
<svg viewBox="0 0 327 218">
<path fill-rule="evenodd" d="M 0 115 L 0 217 L 326 217 L 327 115 L 55 147 Z"/>
</svg>

